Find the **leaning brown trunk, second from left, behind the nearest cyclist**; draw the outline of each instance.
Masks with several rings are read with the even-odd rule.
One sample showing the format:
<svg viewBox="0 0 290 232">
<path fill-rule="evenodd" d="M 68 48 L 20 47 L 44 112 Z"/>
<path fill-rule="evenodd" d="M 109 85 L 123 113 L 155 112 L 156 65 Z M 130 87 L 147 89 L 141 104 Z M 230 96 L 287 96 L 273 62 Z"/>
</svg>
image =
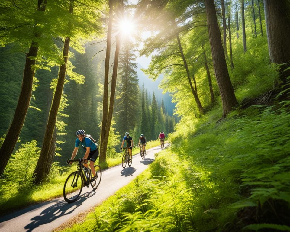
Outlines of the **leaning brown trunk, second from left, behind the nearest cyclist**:
<svg viewBox="0 0 290 232">
<path fill-rule="evenodd" d="M 69 3 L 70 14 L 72 14 L 73 12 L 73 2 L 74 0 L 70 0 L 70 3 Z M 52 101 L 49 116 L 48 116 L 48 121 L 47 121 L 47 126 L 46 126 L 46 130 L 44 134 L 42 148 L 40 151 L 40 156 L 38 158 L 37 165 L 34 169 L 34 180 L 33 180 L 34 184 L 40 184 L 49 175 L 50 167 L 53 162 L 54 152 L 51 152 L 51 145 L 53 145 L 52 144 L 53 132 L 55 130 L 57 112 L 60 106 L 60 100 L 63 94 L 63 86 L 65 82 L 65 77 L 66 77 L 66 64 L 67 64 L 68 56 L 69 56 L 69 41 L 70 41 L 70 38 L 66 37 L 64 41 L 64 46 L 63 46 L 64 63 L 60 66 L 56 89 L 54 92 L 54 97 L 53 97 L 53 101 Z M 55 144 L 53 146 L 55 146 Z"/>
</svg>

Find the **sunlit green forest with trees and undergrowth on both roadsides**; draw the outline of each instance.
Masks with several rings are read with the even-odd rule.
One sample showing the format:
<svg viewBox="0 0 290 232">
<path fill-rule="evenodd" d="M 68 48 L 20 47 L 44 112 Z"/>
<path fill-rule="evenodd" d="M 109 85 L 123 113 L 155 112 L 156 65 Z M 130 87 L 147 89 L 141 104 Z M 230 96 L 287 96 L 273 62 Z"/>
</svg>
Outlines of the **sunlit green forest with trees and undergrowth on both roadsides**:
<svg viewBox="0 0 290 232">
<path fill-rule="evenodd" d="M 290 231 L 289 0 L 0 11 L 0 216 L 62 195 L 77 130 L 97 140 L 102 169 L 120 164 L 125 132 L 138 153 L 140 134 L 153 147 L 164 131 L 149 168 L 64 231 Z M 139 83 L 138 56 L 173 114 Z"/>
</svg>

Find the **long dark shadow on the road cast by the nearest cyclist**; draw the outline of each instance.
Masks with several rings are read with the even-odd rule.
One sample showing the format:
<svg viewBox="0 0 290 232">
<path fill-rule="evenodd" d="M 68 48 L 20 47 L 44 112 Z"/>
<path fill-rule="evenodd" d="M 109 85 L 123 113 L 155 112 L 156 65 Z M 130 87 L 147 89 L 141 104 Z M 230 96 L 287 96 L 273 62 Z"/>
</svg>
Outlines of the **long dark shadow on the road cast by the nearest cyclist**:
<svg viewBox="0 0 290 232">
<path fill-rule="evenodd" d="M 87 198 L 92 197 L 93 195 L 95 195 L 95 191 L 86 192 L 73 203 L 67 203 L 66 201 L 62 200 L 44 209 L 39 216 L 31 218 L 32 222 L 27 224 L 24 229 L 28 229 L 27 232 L 30 232 L 40 225 L 50 223 L 57 218 L 71 214 L 76 208 L 81 206 Z"/>
</svg>

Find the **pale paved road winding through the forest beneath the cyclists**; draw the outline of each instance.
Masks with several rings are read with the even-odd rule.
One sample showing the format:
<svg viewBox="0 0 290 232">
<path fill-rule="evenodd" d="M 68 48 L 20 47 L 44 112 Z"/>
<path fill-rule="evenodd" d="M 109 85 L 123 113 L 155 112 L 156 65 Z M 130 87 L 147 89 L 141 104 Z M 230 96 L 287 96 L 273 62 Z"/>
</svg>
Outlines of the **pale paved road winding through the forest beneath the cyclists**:
<svg viewBox="0 0 290 232">
<path fill-rule="evenodd" d="M 154 160 L 154 154 L 160 150 L 160 146 L 148 149 L 145 160 L 141 159 L 140 154 L 133 156 L 131 167 L 123 169 L 121 165 L 118 165 L 104 170 L 98 188 L 94 190 L 91 186 L 84 187 L 76 202 L 68 204 L 63 197 L 60 197 L 0 217 L 0 231 L 52 231 L 77 214 L 89 210 L 92 205 L 100 204 L 119 188 L 130 183 L 147 169 Z"/>
</svg>

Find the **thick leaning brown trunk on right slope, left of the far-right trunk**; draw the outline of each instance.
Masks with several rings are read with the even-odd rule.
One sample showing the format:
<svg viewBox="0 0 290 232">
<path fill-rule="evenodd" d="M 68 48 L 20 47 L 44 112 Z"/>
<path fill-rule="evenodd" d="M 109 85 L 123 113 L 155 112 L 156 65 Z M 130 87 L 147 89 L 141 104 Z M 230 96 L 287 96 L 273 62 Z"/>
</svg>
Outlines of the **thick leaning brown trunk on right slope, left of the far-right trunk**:
<svg viewBox="0 0 290 232">
<path fill-rule="evenodd" d="M 208 22 L 208 34 L 211 43 L 214 72 L 218 82 L 218 87 L 221 93 L 221 101 L 223 104 L 222 118 L 225 118 L 232 110 L 232 108 L 238 104 L 238 102 L 227 70 L 227 63 L 224 56 L 224 49 L 221 43 L 221 32 L 218 27 L 214 0 L 205 0 L 205 11 Z"/>
</svg>

